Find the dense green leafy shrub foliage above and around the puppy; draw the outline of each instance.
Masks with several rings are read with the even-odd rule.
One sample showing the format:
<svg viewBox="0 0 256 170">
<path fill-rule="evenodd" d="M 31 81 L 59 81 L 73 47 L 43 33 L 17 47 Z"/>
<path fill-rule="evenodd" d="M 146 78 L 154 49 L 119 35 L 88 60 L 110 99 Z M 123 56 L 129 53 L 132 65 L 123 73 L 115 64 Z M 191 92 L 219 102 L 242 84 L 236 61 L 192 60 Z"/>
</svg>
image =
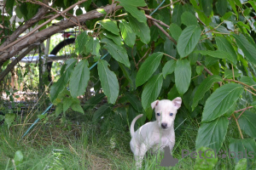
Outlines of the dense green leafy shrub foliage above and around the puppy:
<svg viewBox="0 0 256 170">
<path fill-rule="evenodd" d="M 9 1 L 8 11 L 16 3 L 11 2 L 14 1 Z M 52 7 L 67 9 L 76 3 L 61 2 L 55 1 Z M 81 3 L 79 8 L 84 6 L 90 14 L 95 6 L 107 7 L 111 3 L 92 0 Z M 68 106 L 73 110 L 78 108 L 84 113 L 76 99 L 84 94 L 88 81 L 93 83 L 96 95 L 103 92 L 112 104 L 99 108 L 94 121 L 109 114 L 112 110 L 107 111 L 108 107 L 123 108 L 130 121 L 138 113 L 151 119 L 151 102 L 181 96 L 183 111 L 201 119 L 195 140 L 197 150 L 205 146 L 218 152 L 230 128 L 229 122 L 236 122 L 239 134 L 230 140 L 230 151 L 246 148 L 255 155 L 252 120 L 256 117 L 256 3 L 167 1 L 154 12 L 160 5 L 157 1 L 113 3 L 119 5 L 115 11 L 107 12 L 107 8 L 101 7 L 94 12 L 100 11 L 103 17 L 86 20 L 86 29 L 76 39 L 76 55 L 66 61 L 61 78 L 52 85 L 50 99 L 57 105 L 58 113 L 67 111 L 63 104 L 67 100 L 72 101 Z M 25 13 L 25 6 L 34 10 Z M 37 8 L 35 3 L 20 3 L 16 12 L 29 20 Z M 8 17 L 4 19 L 8 26 Z M 96 62 L 98 65 L 92 66 Z M 68 86 L 70 92 L 66 90 Z M 240 159 L 236 157 L 235 161 Z M 247 158 L 248 165 L 250 161 Z"/>
</svg>

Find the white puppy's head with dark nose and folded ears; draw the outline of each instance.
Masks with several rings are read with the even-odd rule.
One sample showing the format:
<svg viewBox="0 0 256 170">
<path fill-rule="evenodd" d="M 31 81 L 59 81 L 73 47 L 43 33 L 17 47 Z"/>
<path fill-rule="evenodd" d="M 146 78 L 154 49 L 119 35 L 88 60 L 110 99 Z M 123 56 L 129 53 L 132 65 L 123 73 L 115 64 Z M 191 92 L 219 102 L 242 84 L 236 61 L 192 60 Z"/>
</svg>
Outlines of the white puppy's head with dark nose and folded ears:
<svg viewBox="0 0 256 170">
<path fill-rule="evenodd" d="M 168 129 L 174 123 L 177 110 L 182 104 L 182 99 L 177 97 L 172 101 L 169 99 L 155 100 L 151 107 L 154 109 L 155 118 L 160 128 Z"/>
</svg>

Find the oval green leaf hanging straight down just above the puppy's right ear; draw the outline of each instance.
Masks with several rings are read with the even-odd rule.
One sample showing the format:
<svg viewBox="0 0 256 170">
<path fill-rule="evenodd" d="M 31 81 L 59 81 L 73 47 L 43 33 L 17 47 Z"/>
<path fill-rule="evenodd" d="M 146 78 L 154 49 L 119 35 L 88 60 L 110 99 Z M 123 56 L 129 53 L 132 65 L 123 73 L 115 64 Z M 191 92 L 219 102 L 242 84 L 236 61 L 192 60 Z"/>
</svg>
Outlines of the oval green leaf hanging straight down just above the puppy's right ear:
<svg viewBox="0 0 256 170">
<path fill-rule="evenodd" d="M 174 75 L 177 92 L 182 95 L 189 89 L 191 81 L 191 66 L 188 59 L 177 59 Z"/>
</svg>

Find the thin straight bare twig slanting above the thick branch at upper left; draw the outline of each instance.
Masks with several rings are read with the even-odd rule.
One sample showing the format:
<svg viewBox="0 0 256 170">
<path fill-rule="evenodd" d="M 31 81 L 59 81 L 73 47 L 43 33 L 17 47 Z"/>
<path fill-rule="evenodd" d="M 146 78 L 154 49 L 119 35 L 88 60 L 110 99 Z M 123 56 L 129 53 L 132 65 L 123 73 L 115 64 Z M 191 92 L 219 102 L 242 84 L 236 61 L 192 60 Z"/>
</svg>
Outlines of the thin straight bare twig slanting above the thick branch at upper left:
<svg viewBox="0 0 256 170">
<path fill-rule="evenodd" d="M 9 43 L 9 45 L 3 47 L 2 49 L 0 49 L 0 51 L 3 51 L 7 48 L 10 48 L 12 46 L 14 46 L 16 43 L 20 42 L 21 40 L 25 39 L 26 37 L 31 36 L 35 31 L 38 31 L 40 28 L 42 28 L 43 26 L 47 25 L 50 21 L 55 20 L 57 17 L 59 17 L 61 14 L 65 14 L 67 13 L 68 10 L 70 10 L 71 8 L 74 8 L 76 5 L 79 5 L 80 3 L 84 3 L 87 0 L 82 0 L 79 1 L 78 3 L 74 3 L 72 6 L 66 8 L 65 10 L 63 10 L 60 14 L 55 14 L 55 16 L 51 17 L 49 20 L 46 20 L 43 24 L 41 24 L 40 26 L 38 26 L 37 28 L 35 28 L 33 31 L 29 32 L 26 34 L 26 36 L 21 37 L 20 39 L 17 39 L 15 42 L 11 42 Z"/>
</svg>

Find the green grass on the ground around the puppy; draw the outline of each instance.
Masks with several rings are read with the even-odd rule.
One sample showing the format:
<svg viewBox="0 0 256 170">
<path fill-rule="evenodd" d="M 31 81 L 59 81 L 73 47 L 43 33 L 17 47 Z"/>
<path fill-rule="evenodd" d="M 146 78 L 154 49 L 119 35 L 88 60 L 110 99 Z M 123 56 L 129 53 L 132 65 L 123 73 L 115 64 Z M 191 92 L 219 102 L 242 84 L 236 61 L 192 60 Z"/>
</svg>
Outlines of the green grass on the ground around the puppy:
<svg viewBox="0 0 256 170">
<path fill-rule="evenodd" d="M 5 125 L 0 126 L 0 169 L 136 169 L 126 123 L 117 123 L 115 115 L 91 122 L 92 115 L 92 112 L 84 116 L 70 113 L 67 114 L 68 121 L 50 116 L 48 122 L 39 123 L 24 139 L 20 136 L 29 126 L 16 124 L 9 130 Z M 171 169 L 194 169 L 196 159 L 182 158 L 181 153 L 182 150 L 195 150 L 198 126 L 196 119 L 187 118 L 177 128 L 172 155 L 179 162 Z M 228 150 L 228 141 L 234 133 L 238 134 L 236 126 L 230 128 L 222 150 Z M 24 157 L 20 162 L 13 161 L 17 150 Z M 145 156 L 143 169 L 155 169 L 157 157 L 159 155 Z M 226 158 L 218 159 L 213 169 L 234 167 L 234 161 Z"/>
</svg>

